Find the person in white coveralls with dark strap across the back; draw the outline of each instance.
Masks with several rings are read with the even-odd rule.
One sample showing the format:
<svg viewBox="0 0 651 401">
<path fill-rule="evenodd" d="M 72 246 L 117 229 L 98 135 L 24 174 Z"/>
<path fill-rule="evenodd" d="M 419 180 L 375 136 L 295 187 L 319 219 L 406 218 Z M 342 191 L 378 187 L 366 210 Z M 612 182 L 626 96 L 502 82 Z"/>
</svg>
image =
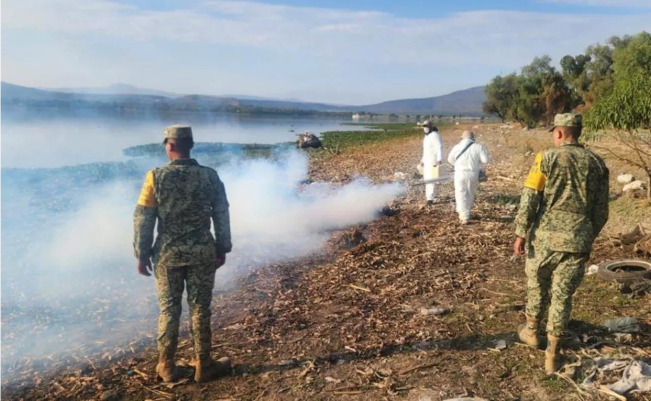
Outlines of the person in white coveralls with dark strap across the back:
<svg viewBox="0 0 651 401">
<path fill-rule="evenodd" d="M 454 165 L 454 198 L 456 212 L 462 224 L 470 219 L 470 210 L 475 203 L 475 191 L 479 184 L 479 171 L 482 164 L 490 161 L 484 145 L 475 143 L 475 133 L 464 131 L 461 142 L 454 145 L 448 155 L 448 163 Z"/>
</svg>

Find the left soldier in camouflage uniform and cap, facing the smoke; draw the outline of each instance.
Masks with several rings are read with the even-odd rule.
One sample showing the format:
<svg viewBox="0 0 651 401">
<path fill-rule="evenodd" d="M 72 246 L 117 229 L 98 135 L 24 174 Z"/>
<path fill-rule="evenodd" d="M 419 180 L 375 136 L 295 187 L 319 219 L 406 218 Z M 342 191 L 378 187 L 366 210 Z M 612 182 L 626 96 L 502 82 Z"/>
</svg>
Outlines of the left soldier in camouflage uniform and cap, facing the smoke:
<svg viewBox="0 0 651 401">
<path fill-rule="evenodd" d="M 164 381 L 174 380 L 185 286 L 197 357 L 195 380 L 199 382 L 230 370 L 228 358 L 217 362 L 210 358 L 215 270 L 226 262 L 232 248 L 229 202 L 217 172 L 190 158 L 194 144 L 191 128 L 171 126 L 165 128 L 164 134 L 170 161 L 146 174 L 133 217 L 133 247 L 139 273 L 149 276 L 153 270 L 156 277 L 160 307 L 156 373 Z M 211 219 L 215 237 L 210 231 Z"/>
</svg>

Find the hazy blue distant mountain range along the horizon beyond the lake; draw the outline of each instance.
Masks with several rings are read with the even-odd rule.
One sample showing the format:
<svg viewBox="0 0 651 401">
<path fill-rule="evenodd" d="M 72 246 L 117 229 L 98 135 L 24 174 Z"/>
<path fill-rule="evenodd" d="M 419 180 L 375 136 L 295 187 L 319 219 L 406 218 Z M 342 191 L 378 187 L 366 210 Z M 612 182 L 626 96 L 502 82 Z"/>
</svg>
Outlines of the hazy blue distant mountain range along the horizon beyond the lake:
<svg viewBox="0 0 651 401">
<path fill-rule="evenodd" d="M 459 90 L 443 96 L 421 99 L 391 100 L 371 105 L 331 105 L 281 100 L 258 96 L 228 95 L 208 96 L 176 94 L 163 90 L 142 89 L 126 84 L 103 88 L 36 89 L 0 82 L 0 103 L 20 102 L 129 102 L 143 105 L 165 103 L 174 106 L 189 104 L 210 107 L 260 107 L 264 109 L 293 109 L 313 112 L 367 112 L 378 114 L 422 115 L 482 115 L 482 103 L 486 96 L 484 87 Z"/>
</svg>

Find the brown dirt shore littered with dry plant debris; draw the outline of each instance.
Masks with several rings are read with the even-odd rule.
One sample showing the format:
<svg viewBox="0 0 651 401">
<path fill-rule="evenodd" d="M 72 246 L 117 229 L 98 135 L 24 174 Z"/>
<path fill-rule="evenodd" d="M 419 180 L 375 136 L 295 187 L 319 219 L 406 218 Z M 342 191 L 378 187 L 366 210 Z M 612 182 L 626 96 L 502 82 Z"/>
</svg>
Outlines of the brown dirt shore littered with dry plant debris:
<svg viewBox="0 0 651 401">
<path fill-rule="evenodd" d="M 464 128 L 457 127 L 459 130 Z M 447 146 L 459 130 L 443 132 Z M 237 290 L 214 299 L 215 356 L 229 355 L 232 376 L 198 385 L 191 379 L 158 383 L 152 340 L 124 352 L 58 370 L 25 368 L 3 383 L 7 400 L 608 400 L 581 393 L 570 380 L 547 377 L 542 350 L 516 340 L 524 320 L 523 260 L 512 257 L 519 190 L 534 152 L 549 146 L 542 131 L 475 128 L 493 163 L 480 186 L 471 225 L 454 214 L 451 184 L 441 202 L 424 206 L 422 187 L 409 190 L 381 217 L 333 235 L 322 255 L 267 266 L 240 279 Z M 314 157 L 312 180 L 374 182 L 411 174 L 421 138 L 400 139 Z M 609 160 L 611 192 L 624 165 Z M 632 173 L 635 173 L 634 171 Z M 608 234 L 648 215 L 644 200 L 613 200 L 613 218 L 596 242 L 592 262 L 630 257 Z M 365 241 L 348 247 L 348 237 Z M 620 294 L 615 283 L 585 278 L 574 297 L 564 351 L 567 364 L 603 355 L 651 360 L 651 297 Z M 421 308 L 448 312 L 424 316 Z M 634 316 L 645 330 L 616 340 L 609 318 Z M 498 349 L 504 340 L 506 348 Z M 191 359 L 187 327 L 179 365 Z M 191 378 L 191 368 L 184 369 Z M 642 395 L 629 398 L 644 400 Z"/>
</svg>

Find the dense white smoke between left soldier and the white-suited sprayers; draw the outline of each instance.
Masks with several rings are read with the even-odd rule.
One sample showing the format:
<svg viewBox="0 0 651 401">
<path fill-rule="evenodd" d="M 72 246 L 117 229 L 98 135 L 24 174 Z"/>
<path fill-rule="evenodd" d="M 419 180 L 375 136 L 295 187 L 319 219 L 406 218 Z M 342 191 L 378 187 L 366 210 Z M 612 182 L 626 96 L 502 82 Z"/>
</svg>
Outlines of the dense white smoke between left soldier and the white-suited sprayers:
<svg viewBox="0 0 651 401">
<path fill-rule="evenodd" d="M 319 251 L 330 230 L 370 221 L 402 192 L 398 184 L 374 186 L 363 179 L 342 187 L 315 183 L 299 192 L 307 159 L 298 152 L 282 165 L 251 161 L 220 175 L 229 196 L 234 251 L 218 279 L 260 256 L 269 263 Z"/>
</svg>

